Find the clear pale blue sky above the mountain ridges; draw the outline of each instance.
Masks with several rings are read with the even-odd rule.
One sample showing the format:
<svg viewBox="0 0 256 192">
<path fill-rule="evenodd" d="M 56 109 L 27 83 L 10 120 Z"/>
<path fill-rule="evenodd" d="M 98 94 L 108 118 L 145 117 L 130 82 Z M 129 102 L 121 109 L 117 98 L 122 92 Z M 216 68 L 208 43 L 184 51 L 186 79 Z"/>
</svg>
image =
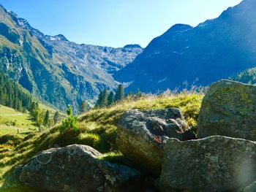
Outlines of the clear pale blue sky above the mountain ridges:
<svg viewBox="0 0 256 192">
<path fill-rule="evenodd" d="M 148 43 L 176 23 L 197 26 L 241 0 L 0 0 L 44 34 L 123 47 Z"/>
</svg>

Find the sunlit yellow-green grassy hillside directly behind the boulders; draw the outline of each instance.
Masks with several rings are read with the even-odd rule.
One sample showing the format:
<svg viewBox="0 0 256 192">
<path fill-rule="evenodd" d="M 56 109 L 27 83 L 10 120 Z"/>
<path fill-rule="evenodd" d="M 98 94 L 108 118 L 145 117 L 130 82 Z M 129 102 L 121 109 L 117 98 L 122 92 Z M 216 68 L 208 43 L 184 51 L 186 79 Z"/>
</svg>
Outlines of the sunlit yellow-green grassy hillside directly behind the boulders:
<svg viewBox="0 0 256 192">
<path fill-rule="evenodd" d="M 178 107 L 184 113 L 190 126 L 195 126 L 203 95 L 181 93 L 176 96 L 147 96 L 138 101 L 124 101 L 113 107 L 91 110 L 79 118 L 80 134 L 76 137 L 64 137 L 58 127 L 43 134 L 31 133 L 18 145 L 8 142 L 0 145 L 0 178 L 4 178 L 18 164 L 23 164 L 41 150 L 53 145 L 71 144 L 90 145 L 102 153 L 105 159 L 113 160 L 121 156 L 116 147 L 116 123 L 125 110 L 156 110 Z M 0 137 L 1 143 L 1 137 Z M 7 150 L 8 149 L 8 150 Z M 4 183 L 4 179 L 1 180 Z"/>
</svg>

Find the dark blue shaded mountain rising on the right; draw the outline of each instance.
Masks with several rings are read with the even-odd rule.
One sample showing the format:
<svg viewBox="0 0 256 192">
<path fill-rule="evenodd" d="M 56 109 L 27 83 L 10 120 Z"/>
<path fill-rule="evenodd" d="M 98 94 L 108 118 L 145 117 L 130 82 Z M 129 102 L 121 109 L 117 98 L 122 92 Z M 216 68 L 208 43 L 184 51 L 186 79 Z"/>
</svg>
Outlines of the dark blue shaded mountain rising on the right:
<svg viewBox="0 0 256 192">
<path fill-rule="evenodd" d="M 209 85 L 256 66 L 256 1 L 244 0 L 196 27 L 177 24 L 114 74 L 129 90 Z"/>
</svg>

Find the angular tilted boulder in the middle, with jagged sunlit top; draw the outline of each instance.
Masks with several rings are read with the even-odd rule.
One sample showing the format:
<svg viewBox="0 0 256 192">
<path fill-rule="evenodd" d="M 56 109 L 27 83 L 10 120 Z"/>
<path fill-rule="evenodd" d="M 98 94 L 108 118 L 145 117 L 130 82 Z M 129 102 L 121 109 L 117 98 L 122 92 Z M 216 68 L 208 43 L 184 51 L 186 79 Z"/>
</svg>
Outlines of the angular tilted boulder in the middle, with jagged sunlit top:
<svg viewBox="0 0 256 192">
<path fill-rule="evenodd" d="M 195 139 L 180 110 L 128 110 L 118 124 L 116 143 L 121 153 L 140 168 L 159 175 L 162 145 L 170 137 Z"/>
</svg>

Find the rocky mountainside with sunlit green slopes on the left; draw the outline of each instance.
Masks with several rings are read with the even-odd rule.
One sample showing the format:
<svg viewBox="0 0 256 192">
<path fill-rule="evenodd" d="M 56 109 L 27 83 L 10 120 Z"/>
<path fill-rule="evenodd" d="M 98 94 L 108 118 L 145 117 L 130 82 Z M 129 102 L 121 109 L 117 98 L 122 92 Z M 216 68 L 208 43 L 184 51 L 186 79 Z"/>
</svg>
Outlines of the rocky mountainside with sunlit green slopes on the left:
<svg viewBox="0 0 256 192">
<path fill-rule="evenodd" d="M 82 100 L 94 103 L 103 88 L 113 90 L 112 74 L 143 49 L 78 45 L 63 35 L 48 36 L 0 6 L 0 71 L 42 101 L 65 110 Z"/>
</svg>

